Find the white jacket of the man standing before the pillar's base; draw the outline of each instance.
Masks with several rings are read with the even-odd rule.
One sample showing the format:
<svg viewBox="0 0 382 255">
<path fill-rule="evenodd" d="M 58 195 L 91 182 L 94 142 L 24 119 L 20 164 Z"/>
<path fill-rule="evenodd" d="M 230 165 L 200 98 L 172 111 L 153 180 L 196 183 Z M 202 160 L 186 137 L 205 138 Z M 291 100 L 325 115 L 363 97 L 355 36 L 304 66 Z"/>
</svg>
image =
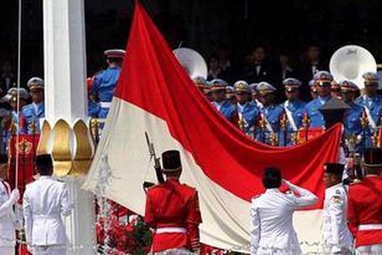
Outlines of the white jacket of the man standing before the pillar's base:
<svg viewBox="0 0 382 255">
<path fill-rule="evenodd" d="M 23 197 L 25 234 L 32 245 L 65 244 L 61 214 L 70 214 L 68 191 L 64 183 L 50 176 L 26 186 Z"/>
</svg>

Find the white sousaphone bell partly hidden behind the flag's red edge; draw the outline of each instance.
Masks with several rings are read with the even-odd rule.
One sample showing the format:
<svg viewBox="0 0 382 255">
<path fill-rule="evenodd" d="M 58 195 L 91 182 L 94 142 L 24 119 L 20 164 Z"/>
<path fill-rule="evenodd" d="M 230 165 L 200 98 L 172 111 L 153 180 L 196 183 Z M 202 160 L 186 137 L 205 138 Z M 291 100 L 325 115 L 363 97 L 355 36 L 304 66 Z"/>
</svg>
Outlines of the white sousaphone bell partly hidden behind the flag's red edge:
<svg viewBox="0 0 382 255">
<path fill-rule="evenodd" d="M 192 80 L 197 77 L 207 79 L 207 63 L 196 50 L 177 48 L 173 53 Z"/>
</svg>

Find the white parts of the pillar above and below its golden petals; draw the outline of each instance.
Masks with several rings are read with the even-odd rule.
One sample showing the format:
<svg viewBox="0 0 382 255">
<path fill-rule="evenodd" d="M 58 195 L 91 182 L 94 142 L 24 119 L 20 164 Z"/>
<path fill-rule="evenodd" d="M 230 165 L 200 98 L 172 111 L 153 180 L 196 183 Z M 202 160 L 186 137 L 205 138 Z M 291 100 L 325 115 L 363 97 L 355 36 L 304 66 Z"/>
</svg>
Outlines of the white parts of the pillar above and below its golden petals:
<svg viewBox="0 0 382 255">
<path fill-rule="evenodd" d="M 43 15 L 45 119 L 51 127 L 59 119 L 73 127 L 79 119 L 87 122 L 84 0 L 43 0 Z M 93 195 L 80 189 L 81 179 L 63 179 L 74 203 L 65 219 L 67 254 L 96 253 Z"/>
</svg>

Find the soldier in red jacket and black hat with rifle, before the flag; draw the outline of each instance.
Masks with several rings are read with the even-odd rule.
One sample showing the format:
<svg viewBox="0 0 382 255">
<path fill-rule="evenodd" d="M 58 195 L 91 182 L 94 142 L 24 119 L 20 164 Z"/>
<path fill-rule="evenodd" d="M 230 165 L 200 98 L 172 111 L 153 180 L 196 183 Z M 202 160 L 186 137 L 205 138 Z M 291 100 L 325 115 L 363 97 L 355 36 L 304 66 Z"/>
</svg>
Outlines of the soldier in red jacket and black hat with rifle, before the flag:
<svg viewBox="0 0 382 255">
<path fill-rule="evenodd" d="M 200 250 L 199 224 L 202 222 L 198 192 L 179 182 L 180 154 L 162 154 L 166 182 L 149 188 L 145 221 L 154 229 L 151 251 L 154 254 L 193 254 Z"/>
</svg>

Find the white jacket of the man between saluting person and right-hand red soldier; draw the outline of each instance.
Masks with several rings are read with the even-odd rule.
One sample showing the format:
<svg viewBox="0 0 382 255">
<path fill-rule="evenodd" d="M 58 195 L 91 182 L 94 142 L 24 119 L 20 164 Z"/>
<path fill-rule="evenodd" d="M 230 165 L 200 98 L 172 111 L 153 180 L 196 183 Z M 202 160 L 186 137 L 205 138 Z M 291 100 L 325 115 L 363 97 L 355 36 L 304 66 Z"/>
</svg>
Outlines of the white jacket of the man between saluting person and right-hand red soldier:
<svg viewBox="0 0 382 255">
<path fill-rule="evenodd" d="M 347 193 L 339 183 L 325 189 L 323 204 L 323 241 L 331 252 L 351 248 L 353 240 L 347 227 Z"/>
</svg>

